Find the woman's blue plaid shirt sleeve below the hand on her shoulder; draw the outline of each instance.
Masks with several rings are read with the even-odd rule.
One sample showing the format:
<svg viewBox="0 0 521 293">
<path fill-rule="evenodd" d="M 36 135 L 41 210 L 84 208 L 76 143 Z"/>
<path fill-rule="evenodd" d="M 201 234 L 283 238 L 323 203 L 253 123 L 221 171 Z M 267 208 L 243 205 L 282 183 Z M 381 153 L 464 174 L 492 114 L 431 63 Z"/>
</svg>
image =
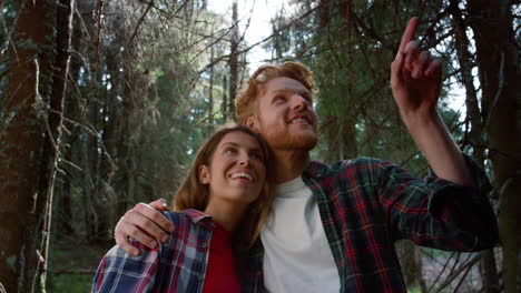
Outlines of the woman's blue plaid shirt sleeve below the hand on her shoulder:
<svg viewBox="0 0 521 293">
<path fill-rule="evenodd" d="M 96 271 L 92 292 L 151 292 L 160 262 L 157 249 L 150 250 L 132 241 L 141 254 L 134 256 L 114 246 Z M 160 246 L 160 245 L 159 245 Z"/>
</svg>

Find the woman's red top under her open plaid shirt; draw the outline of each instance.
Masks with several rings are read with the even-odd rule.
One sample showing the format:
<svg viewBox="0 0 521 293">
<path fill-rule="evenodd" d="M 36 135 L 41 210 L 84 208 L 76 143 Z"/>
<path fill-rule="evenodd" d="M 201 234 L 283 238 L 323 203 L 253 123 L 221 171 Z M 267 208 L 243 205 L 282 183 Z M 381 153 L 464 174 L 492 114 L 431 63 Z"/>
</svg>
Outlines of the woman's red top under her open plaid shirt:
<svg viewBox="0 0 521 293">
<path fill-rule="evenodd" d="M 214 223 L 203 293 L 240 292 L 232 251 L 232 235 L 220 224 Z"/>
</svg>

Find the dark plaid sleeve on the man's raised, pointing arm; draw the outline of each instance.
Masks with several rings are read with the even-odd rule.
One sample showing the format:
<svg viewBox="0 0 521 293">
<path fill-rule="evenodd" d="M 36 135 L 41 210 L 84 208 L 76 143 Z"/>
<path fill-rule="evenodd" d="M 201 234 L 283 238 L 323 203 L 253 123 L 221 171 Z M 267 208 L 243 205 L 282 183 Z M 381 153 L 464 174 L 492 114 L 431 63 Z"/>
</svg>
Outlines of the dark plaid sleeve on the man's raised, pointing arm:
<svg viewBox="0 0 521 293">
<path fill-rule="evenodd" d="M 491 185 L 484 172 L 463 154 L 475 186 L 462 186 L 434 172 L 415 179 L 402 168 L 380 161 L 372 169 L 373 182 L 391 223 L 392 236 L 419 245 L 450 251 L 493 247 L 498 223 L 486 198 Z"/>
</svg>

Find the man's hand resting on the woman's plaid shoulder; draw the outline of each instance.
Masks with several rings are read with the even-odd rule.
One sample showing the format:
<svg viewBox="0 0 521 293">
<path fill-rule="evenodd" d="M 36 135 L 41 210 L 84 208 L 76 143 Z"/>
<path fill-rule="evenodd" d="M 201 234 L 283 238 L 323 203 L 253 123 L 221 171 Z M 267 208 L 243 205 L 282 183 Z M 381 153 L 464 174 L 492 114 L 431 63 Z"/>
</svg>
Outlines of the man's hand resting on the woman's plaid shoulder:
<svg viewBox="0 0 521 293">
<path fill-rule="evenodd" d="M 150 204 L 138 203 L 127 211 L 119 220 L 114 232 L 116 243 L 128 254 L 139 255 L 139 249 L 129 243 L 128 238 L 142 243 L 149 249 L 156 249 L 157 240 L 163 243 L 168 241 L 168 233 L 174 232 L 174 224 L 159 211 L 168 211 L 164 199 Z"/>
</svg>

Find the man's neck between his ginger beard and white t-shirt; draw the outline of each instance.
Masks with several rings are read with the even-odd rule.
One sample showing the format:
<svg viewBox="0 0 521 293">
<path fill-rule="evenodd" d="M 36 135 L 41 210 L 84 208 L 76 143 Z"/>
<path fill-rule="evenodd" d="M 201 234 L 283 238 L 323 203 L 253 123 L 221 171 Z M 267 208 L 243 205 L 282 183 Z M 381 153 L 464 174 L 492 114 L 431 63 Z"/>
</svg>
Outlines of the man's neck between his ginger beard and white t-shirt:
<svg viewBox="0 0 521 293">
<path fill-rule="evenodd" d="M 274 150 L 273 153 L 275 155 L 275 181 L 277 183 L 288 182 L 302 175 L 309 162 L 309 151 Z"/>
</svg>

